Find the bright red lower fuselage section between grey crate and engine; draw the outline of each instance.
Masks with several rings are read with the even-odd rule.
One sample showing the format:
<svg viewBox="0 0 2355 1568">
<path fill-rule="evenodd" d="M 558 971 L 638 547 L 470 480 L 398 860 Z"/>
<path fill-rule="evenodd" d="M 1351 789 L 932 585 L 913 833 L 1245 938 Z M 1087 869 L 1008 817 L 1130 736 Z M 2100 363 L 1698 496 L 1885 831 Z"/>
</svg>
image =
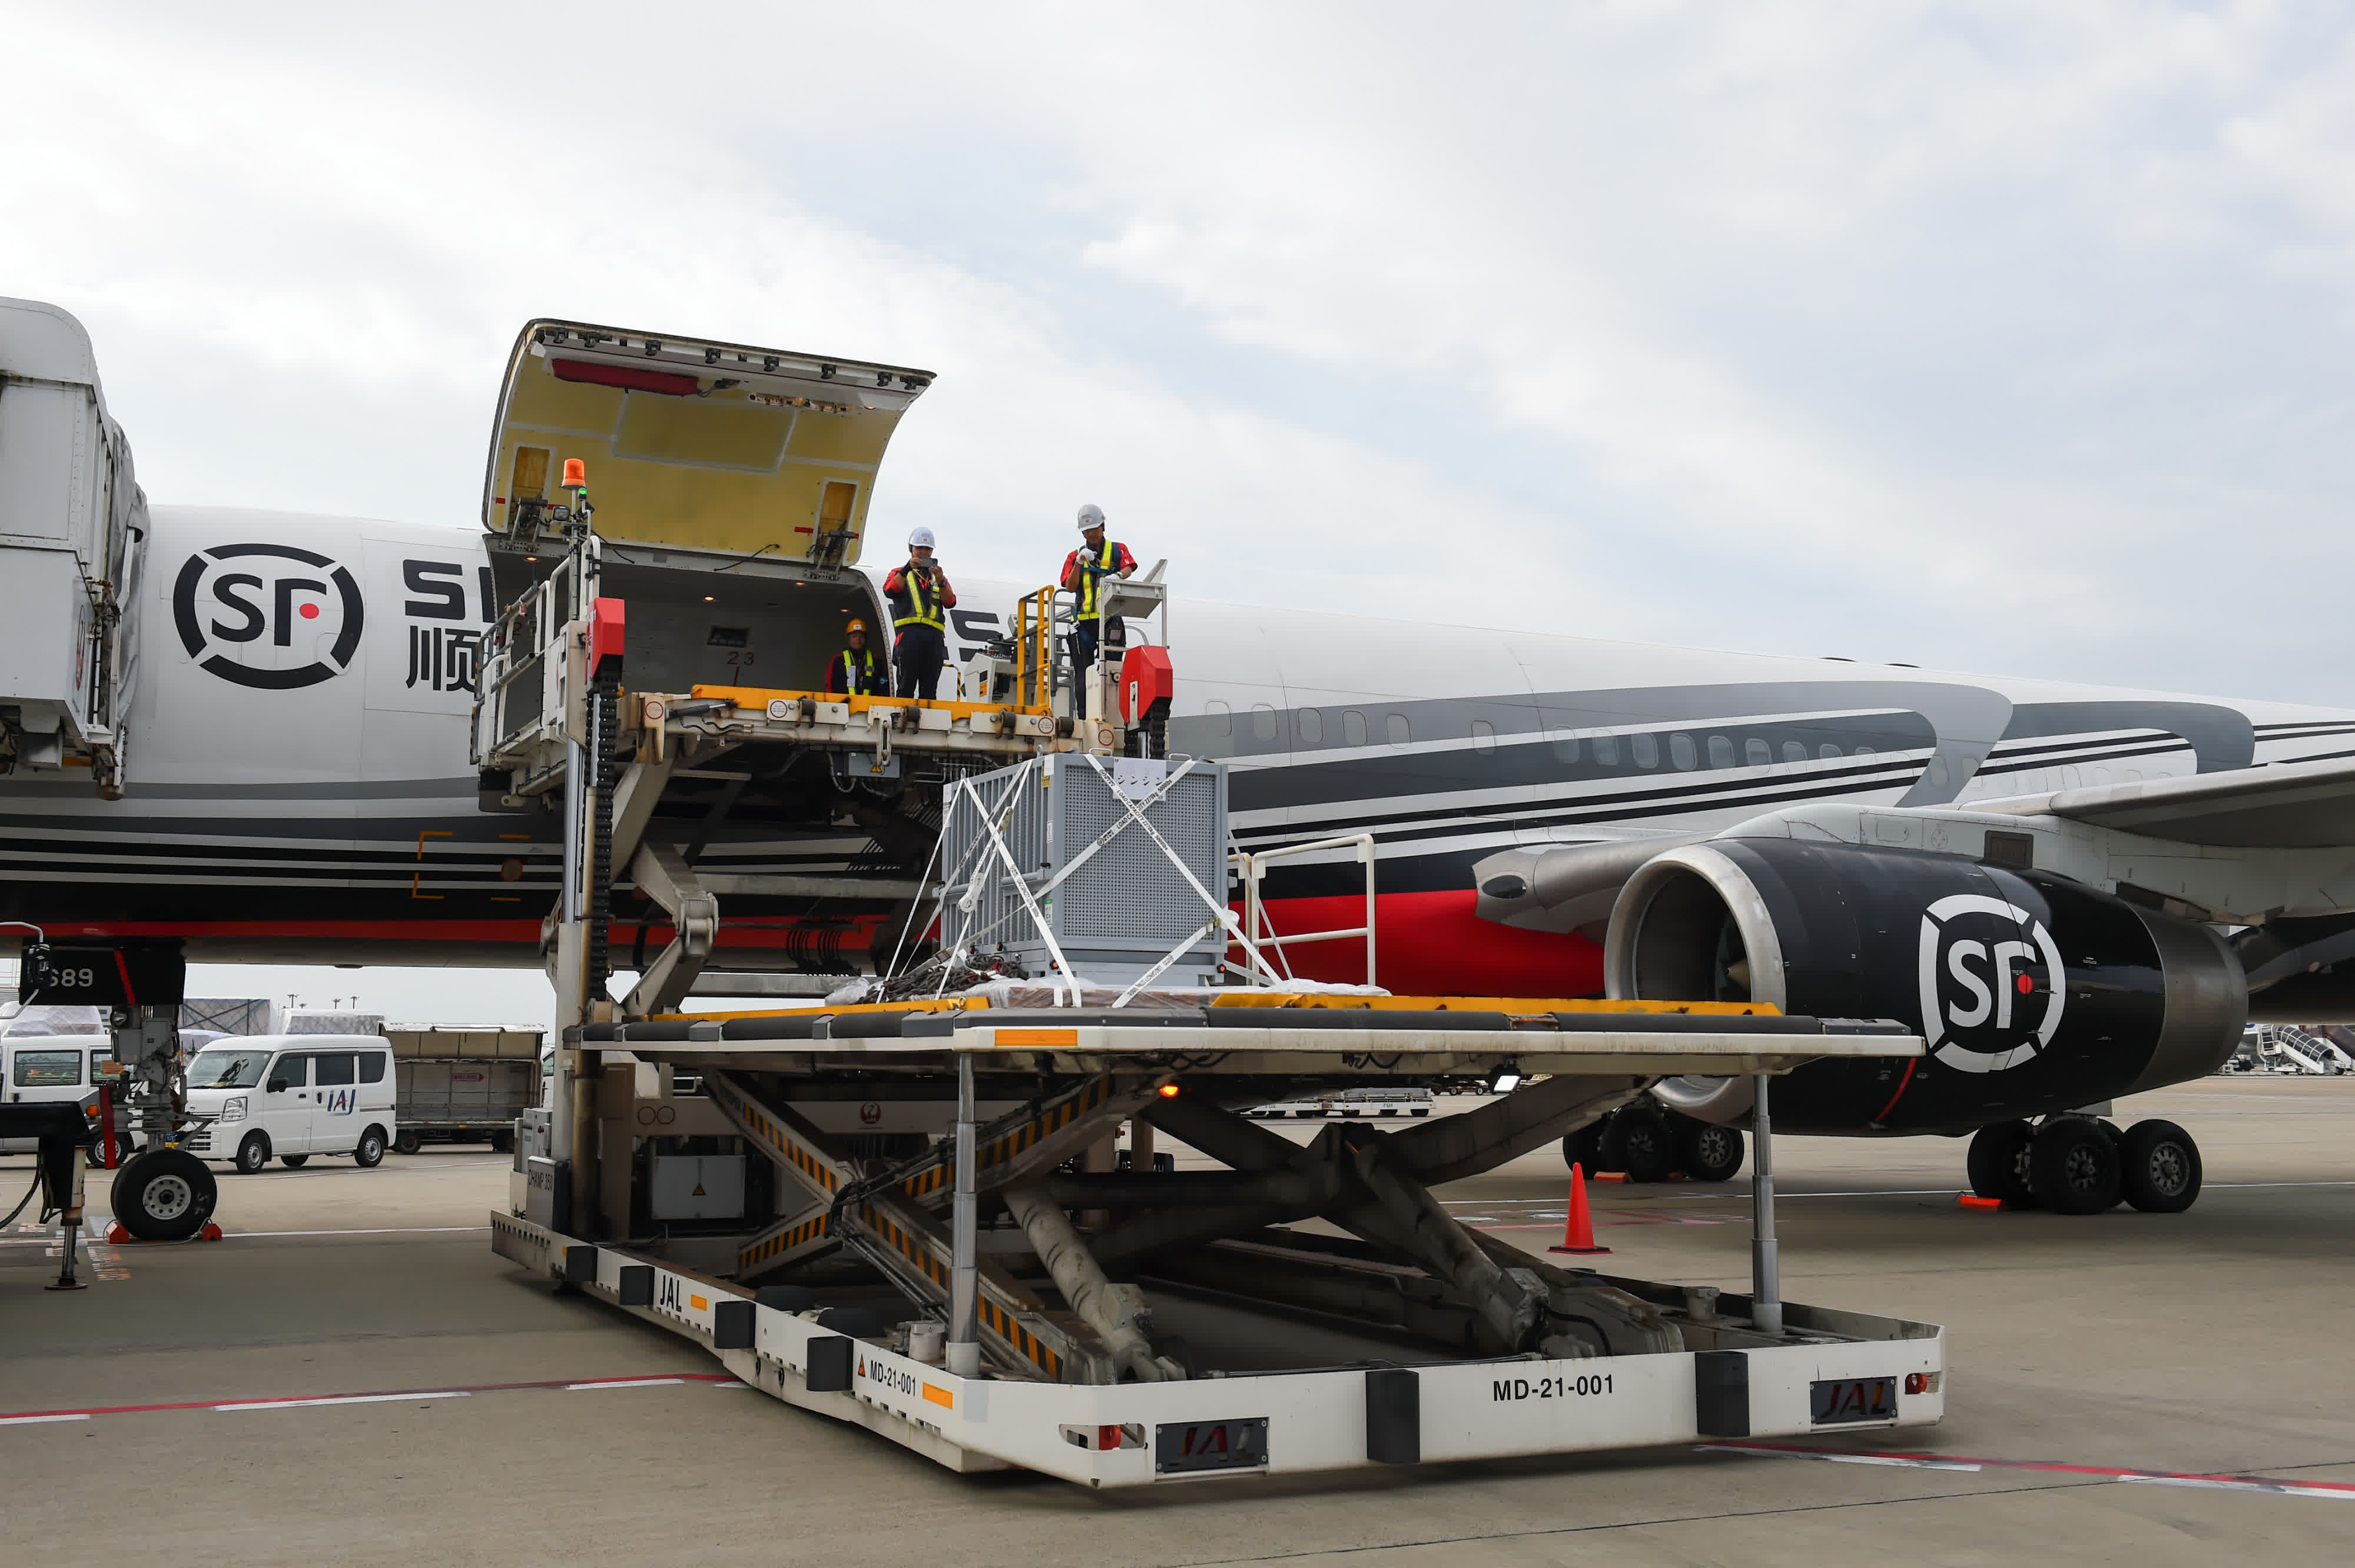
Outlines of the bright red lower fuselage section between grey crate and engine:
<svg viewBox="0 0 2355 1568">
<path fill-rule="evenodd" d="M 1601 996 L 1604 949 L 1575 932 L 1519 930 L 1474 913 L 1479 895 L 1382 892 L 1375 897 L 1373 954 L 1380 984 L 1411 996 Z M 1267 899 L 1279 937 L 1349 930 L 1366 923 L 1364 895 Z M 1241 911 L 1236 911 L 1241 913 Z M 1364 982 L 1359 937 L 1283 949 L 1302 979 Z M 1281 965 L 1279 965 L 1281 968 Z"/>
</svg>

